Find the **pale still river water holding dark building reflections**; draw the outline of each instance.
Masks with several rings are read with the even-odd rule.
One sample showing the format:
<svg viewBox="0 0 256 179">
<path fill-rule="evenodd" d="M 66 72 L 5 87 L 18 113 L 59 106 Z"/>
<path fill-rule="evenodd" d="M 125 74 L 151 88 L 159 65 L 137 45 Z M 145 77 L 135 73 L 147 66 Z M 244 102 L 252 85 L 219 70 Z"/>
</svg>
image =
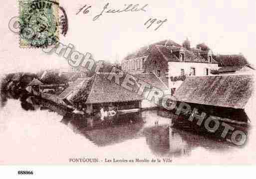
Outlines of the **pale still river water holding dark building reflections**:
<svg viewBox="0 0 256 179">
<path fill-rule="evenodd" d="M 155 123 L 158 124 L 155 124 Z M 69 159 L 163 159 L 169 164 L 255 163 L 254 127 L 237 147 L 216 138 L 171 127 L 156 110 L 94 123 L 47 101 L 8 92 L 0 101 L 0 164 L 75 164 Z"/>
</svg>

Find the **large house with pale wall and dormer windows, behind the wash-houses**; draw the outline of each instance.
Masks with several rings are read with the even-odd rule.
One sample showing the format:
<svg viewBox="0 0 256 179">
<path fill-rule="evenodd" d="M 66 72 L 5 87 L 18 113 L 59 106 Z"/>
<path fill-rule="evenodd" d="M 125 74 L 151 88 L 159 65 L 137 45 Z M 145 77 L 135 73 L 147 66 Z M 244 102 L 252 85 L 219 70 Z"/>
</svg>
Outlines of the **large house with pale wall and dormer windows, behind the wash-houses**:
<svg viewBox="0 0 256 179">
<path fill-rule="evenodd" d="M 163 40 L 136 52 L 122 60 L 122 70 L 131 74 L 154 73 L 172 93 L 182 83 L 185 76 L 207 76 L 212 70 L 218 70 L 218 62 L 213 58 L 212 50 L 190 48 L 188 39 L 183 46 Z"/>
</svg>

